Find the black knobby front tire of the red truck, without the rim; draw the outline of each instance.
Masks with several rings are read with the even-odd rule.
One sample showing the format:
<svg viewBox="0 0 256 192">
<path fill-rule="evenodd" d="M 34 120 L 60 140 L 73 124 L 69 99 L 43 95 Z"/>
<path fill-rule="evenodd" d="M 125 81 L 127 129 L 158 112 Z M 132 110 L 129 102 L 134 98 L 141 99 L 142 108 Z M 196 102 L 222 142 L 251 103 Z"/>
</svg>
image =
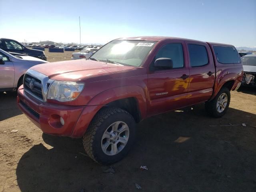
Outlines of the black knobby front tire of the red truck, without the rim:
<svg viewBox="0 0 256 192">
<path fill-rule="evenodd" d="M 101 148 L 101 140 L 105 130 L 114 122 L 125 122 L 129 127 L 129 139 L 123 150 L 118 154 L 109 156 Z M 90 123 L 83 137 L 84 150 L 99 164 L 112 164 L 120 161 L 132 147 L 136 137 L 136 123 L 131 114 L 120 108 L 103 108 Z"/>
</svg>

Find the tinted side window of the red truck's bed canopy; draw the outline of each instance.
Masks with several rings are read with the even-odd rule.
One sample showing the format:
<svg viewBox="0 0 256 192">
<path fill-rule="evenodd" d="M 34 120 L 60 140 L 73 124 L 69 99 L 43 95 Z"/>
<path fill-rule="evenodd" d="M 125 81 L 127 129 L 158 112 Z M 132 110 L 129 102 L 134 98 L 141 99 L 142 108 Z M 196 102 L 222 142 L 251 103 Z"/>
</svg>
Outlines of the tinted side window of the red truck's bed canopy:
<svg viewBox="0 0 256 192">
<path fill-rule="evenodd" d="M 213 46 L 218 62 L 222 64 L 241 63 L 236 48 L 227 46 Z"/>
</svg>

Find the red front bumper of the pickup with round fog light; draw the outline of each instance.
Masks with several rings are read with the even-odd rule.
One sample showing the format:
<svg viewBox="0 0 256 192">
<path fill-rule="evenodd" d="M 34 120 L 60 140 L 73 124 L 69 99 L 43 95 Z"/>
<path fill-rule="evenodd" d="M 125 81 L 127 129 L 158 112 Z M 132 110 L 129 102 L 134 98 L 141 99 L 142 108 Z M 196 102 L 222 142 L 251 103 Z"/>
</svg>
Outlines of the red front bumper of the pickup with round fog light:
<svg viewBox="0 0 256 192">
<path fill-rule="evenodd" d="M 23 85 L 18 89 L 20 110 L 44 133 L 80 138 L 86 132 L 92 118 L 102 106 L 69 106 L 41 102 L 26 94 Z M 60 122 L 64 120 L 64 125 Z"/>
</svg>

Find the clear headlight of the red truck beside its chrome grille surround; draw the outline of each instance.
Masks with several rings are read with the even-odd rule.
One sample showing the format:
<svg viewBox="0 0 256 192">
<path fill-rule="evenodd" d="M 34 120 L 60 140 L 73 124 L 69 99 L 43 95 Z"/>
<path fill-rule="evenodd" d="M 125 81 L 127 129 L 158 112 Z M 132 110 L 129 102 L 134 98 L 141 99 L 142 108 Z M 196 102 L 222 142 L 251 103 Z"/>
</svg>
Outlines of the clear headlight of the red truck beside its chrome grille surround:
<svg viewBox="0 0 256 192">
<path fill-rule="evenodd" d="M 48 90 L 47 99 L 60 102 L 72 101 L 78 97 L 83 88 L 83 83 L 54 81 Z"/>
</svg>

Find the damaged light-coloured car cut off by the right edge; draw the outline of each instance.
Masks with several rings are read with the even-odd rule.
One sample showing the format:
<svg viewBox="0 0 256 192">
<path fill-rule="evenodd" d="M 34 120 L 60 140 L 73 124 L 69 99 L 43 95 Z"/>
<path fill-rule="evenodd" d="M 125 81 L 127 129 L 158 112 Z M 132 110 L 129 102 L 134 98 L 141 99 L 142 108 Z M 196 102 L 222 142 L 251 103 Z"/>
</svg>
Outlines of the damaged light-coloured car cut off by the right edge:
<svg viewBox="0 0 256 192">
<path fill-rule="evenodd" d="M 244 68 L 242 86 L 256 87 L 256 54 L 245 55 L 241 60 Z"/>
</svg>

